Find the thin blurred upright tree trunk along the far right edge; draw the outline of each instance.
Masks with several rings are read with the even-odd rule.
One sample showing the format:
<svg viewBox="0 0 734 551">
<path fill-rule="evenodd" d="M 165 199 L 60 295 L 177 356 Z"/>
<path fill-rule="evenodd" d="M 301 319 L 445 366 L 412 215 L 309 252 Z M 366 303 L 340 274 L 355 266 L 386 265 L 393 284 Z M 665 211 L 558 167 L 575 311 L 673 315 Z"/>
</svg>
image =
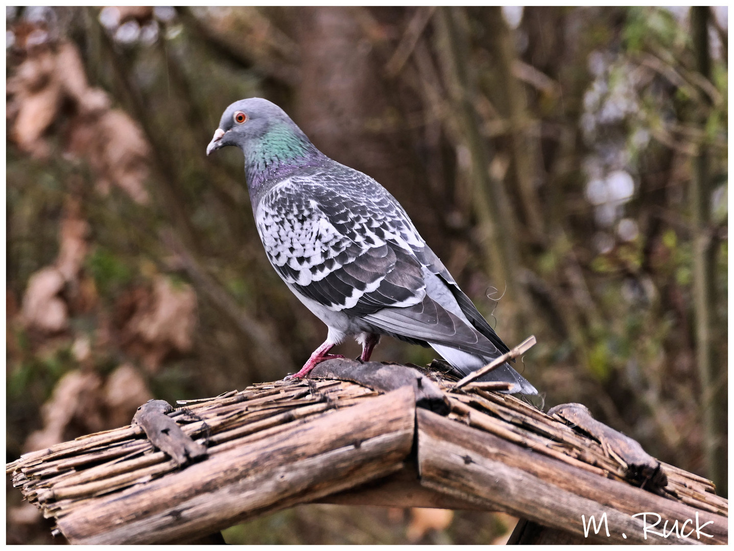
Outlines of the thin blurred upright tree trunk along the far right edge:
<svg viewBox="0 0 734 551">
<path fill-rule="evenodd" d="M 708 44 L 708 21 L 711 9 L 706 6 L 691 8 L 691 31 L 694 54 L 699 73 L 711 81 L 711 54 Z M 710 106 L 704 95 L 704 106 L 697 123 L 705 128 L 706 111 Z M 703 448 L 706 476 L 720 491 L 727 493 L 727 449 L 724 445 L 727 415 L 727 385 L 724 370 L 714 358 L 713 325 L 716 304 L 716 247 L 711 228 L 711 174 L 708 145 L 701 144 L 694 158 L 691 179 L 691 208 L 693 210 L 693 285 L 696 317 L 696 360 L 701 382 Z"/>
</svg>

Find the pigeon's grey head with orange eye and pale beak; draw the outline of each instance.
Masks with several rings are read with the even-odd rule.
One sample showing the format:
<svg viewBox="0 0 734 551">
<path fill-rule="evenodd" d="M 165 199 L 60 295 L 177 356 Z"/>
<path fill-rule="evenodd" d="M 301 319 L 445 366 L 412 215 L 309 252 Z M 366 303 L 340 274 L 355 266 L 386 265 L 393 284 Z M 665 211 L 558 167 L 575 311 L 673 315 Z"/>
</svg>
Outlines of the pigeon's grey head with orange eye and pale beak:
<svg viewBox="0 0 734 551">
<path fill-rule="evenodd" d="M 247 149 L 264 141 L 274 129 L 280 129 L 278 133 L 303 134 L 275 103 L 261 97 L 236 101 L 222 114 L 219 128 L 206 148 L 206 155 L 228 145 L 239 147 L 247 155 Z"/>
</svg>

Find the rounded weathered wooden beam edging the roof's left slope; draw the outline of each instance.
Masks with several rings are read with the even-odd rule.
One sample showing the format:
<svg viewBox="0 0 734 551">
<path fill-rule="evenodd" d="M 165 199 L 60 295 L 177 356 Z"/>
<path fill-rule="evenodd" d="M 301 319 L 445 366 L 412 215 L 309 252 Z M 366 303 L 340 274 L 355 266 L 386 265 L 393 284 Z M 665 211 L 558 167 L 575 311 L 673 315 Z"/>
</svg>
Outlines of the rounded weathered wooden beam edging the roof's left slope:
<svg viewBox="0 0 734 551">
<path fill-rule="evenodd" d="M 388 476 L 410 454 L 414 424 L 413 389 L 402 388 L 90 500 L 58 527 L 74 544 L 191 541 Z"/>
</svg>

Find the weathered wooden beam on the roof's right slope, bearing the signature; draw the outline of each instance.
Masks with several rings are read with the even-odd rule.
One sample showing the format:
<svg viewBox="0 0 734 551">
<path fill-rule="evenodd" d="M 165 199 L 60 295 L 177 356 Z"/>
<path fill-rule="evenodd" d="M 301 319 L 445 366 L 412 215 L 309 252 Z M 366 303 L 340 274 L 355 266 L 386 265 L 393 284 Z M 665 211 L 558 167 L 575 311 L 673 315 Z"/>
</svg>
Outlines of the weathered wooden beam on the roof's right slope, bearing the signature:
<svg viewBox="0 0 734 551">
<path fill-rule="evenodd" d="M 534 453 L 494 434 L 462 426 L 426 410 L 418 410 L 418 467 L 421 484 L 462 500 L 473 501 L 487 510 L 500 510 L 531 519 L 544 526 L 584 536 L 581 520 L 590 515 L 597 521 L 606 514 L 609 536 L 592 536 L 589 541 L 625 544 L 727 543 L 727 518 L 706 514 L 643 489 L 595 476 L 548 456 Z M 712 521 L 703 529 L 711 538 L 696 533 L 688 538 L 664 539 L 634 514 L 650 512 L 669 519 L 666 531 L 678 521 L 685 532 Z M 654 519 L 647 517 L 647 528 Z M 653 528 L 660 531 L 661 527 Z M 603 530 L 604 531 L 604 530 Z M 624 534 L 624 536 L 622 535 Z M 645 537 L 647 536 L 647 538 Z"/>
</svg>

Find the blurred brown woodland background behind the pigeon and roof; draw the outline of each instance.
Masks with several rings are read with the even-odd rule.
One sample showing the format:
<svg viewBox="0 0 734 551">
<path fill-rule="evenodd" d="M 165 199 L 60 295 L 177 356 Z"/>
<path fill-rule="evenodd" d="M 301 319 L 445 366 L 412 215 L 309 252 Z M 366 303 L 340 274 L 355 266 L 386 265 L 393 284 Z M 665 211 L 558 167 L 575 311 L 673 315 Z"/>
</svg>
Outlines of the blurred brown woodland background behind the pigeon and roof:
<svg viewBox="0 0 734 551">
<path fill-rule="evenodd" d="M 241 153 L 205 155 L 260 96 L 401 201 L 507 344 L 537 336 L 517 369 L 546 407 L 586 404 L 727 495 L 726 7 L 7 7 L 6 29 L 7 461 L 282 378 L 323 341 L 267 262 Z M 62 543 L 7 503 L 8 543 Z M 301 506 L 225 539 L 513 523 Z"/>
</svg>

